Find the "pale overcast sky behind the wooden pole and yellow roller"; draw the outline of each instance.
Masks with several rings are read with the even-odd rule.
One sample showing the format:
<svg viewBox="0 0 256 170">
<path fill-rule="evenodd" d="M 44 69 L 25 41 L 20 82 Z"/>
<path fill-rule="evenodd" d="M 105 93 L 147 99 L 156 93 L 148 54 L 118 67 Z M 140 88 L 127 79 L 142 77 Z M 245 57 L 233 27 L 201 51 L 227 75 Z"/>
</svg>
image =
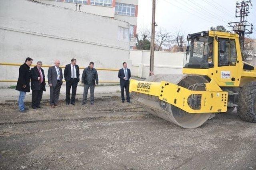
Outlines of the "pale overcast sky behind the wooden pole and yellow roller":
<svg viewBox="0 0 256 170">
<path fill-rule="evenodd" d="M 254 25 L 250 38 L 256 38 L 256 0 L 251 2 L 247 21 Z M 211 26 L 227 28 L 228 22 L 240 21 L 235 10 L 236 0 L 156 0 L 156 29 L 162 27 L 172 33 L 180 29 L 186 36 L 210 30 Z M 138 0 L 137 33 L 143 28 L 151 30 L 151 22 L 152 0 Z"/>
</svg>

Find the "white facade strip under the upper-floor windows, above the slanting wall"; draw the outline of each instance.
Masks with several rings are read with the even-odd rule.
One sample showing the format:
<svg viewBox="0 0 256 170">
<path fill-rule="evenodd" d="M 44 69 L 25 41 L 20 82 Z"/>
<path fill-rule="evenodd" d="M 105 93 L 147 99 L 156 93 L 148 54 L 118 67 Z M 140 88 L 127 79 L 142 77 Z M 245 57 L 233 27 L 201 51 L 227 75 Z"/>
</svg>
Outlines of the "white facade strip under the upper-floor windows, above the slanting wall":
<svg viewBox="0 0 256 170">
<path fill-rule="evenodd" d="M 55 5 L 55 6 L 61 6 L 61 7 L 76 10 L 76 4 L 75 3 L 58 2 L 58 1 L 54 1 L 54 0 L 37 0 L 37 1 L 38 2 L 43 2 L 45 4 L 52 4 L 52 5 Z M 77 7 L 77 10 L 78 10 L 78 7 Z M 114 7 L 108 7 L 108 6 L 97 6 L 97 5 L 90 5 L 90 4 L 82 4 L 82 6 L 80 6 L 80 11 L 114 18 L 115 8 Z"/>
</svg>

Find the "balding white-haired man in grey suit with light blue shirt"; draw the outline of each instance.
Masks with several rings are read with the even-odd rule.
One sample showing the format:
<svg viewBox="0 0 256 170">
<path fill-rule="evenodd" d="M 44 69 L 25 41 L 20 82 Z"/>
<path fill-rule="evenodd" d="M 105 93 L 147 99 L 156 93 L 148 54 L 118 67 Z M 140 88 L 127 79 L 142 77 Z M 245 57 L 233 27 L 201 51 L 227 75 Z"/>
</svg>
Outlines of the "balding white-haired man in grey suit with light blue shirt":
<svg viewBox="0 0 256 170">
<path fill-rule="evenodd" d="M 60 61 L 56 60 L 54 62 L 54 66 L 49 67 L 48 70 L 48 84 L 50 86 L 50 105 L 52 108 L 58 106 L 62 78 L 63 76 L 62 69 L 60 68 Z"/>
</svg>

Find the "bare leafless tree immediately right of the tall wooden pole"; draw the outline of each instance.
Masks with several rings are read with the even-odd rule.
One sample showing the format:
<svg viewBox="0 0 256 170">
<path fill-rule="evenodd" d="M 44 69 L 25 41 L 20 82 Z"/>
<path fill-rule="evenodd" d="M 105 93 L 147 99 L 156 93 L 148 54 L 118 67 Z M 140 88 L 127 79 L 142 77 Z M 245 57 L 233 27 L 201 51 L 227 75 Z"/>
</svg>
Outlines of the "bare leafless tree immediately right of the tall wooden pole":
<svg viewBox="0 0 256 170">
<path fill-rule="evenodd" d="M 168 43 L 171 41 L 172 41 L 171 32 L 168 32 L 168 30 L 162 27 L 160 27 L 156 31 L 156 44 L 157 44 L 156 50 L 160 51 L 162 49 L 162 46 L 168 46 Z"/>
</svg>

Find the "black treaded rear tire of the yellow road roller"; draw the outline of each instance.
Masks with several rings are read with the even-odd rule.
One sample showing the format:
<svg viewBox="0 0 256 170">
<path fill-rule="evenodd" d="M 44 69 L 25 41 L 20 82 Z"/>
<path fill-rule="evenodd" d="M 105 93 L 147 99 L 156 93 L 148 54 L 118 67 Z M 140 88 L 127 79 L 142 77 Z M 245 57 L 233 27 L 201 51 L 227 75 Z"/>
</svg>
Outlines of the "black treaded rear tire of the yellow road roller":
<svg viewBox="0 0 256 170">
<path fill-rule="evenodd" d="M 256 82 L 245 84 L 238 94 L 238 116 L 246 121 L 256 123 Z"/>
</svg>

